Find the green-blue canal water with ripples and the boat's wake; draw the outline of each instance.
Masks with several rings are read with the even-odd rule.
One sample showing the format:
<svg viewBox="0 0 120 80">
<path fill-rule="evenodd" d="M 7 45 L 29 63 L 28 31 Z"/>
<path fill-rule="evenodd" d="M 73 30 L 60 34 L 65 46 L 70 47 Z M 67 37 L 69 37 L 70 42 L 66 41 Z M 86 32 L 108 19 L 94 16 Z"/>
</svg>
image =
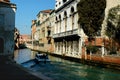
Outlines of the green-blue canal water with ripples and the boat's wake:
<svg viewBox="0 0 120 80">
<path fill-rule="evenodd" d="M 35 54 L 36 52 L 30 49 L 16 50 L 14 60 L 26 69 L 53 80 L 120 80 L 118 70 L 88 66 L 50 55 L 50 63 L 35 64 Z"/>
</svg>

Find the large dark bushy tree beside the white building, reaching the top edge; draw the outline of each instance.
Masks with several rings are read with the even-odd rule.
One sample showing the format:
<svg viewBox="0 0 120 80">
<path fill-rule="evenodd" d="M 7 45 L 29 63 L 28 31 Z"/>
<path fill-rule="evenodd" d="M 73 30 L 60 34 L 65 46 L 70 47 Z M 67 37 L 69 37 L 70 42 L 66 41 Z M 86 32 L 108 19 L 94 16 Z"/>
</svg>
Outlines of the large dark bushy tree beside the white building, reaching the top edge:
<svg viewBox="0 0 120 80">
<path fill-rule="evenodd" d="M 84 33 L 90 38 L 89 40 L 94 36 L 100 35 L 105 7 L 106 0 L 80 0 L 78 3 L 78 23 Z"/>
</svg>

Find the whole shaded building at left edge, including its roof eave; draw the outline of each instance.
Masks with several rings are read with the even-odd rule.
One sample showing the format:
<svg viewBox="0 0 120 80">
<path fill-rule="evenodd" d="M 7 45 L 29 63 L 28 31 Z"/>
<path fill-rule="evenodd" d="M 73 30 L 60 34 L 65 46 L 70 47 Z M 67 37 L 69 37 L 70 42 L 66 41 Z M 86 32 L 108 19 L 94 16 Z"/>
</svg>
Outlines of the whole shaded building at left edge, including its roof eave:
<svg viewBox="0 0 120 80">
<path fill-rule="evenodd" d="M 0 55 L 13 54 L 16 5 L 0 0 Z"/>
</svg>

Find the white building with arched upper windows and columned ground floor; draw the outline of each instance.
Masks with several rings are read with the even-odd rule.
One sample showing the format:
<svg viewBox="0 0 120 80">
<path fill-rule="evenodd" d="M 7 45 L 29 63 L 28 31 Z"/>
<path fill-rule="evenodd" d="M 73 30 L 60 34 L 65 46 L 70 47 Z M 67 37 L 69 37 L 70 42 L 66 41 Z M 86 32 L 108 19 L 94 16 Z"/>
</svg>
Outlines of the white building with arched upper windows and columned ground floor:
<svg viewBox="0 0 120 80">
<path fill-rule="evenodd" d="M 83 30 L 78 24 L 79 0 L 56 0 L 54 42 L 55 53 L 81 58 Z"/>
</svg>

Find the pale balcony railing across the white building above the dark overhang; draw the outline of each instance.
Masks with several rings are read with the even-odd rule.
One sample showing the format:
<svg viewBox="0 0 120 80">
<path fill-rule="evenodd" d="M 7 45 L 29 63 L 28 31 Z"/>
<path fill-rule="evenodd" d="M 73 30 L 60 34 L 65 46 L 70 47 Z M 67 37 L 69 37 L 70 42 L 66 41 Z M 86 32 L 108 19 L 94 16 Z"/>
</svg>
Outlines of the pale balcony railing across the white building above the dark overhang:
<svg viewBox="0 0 120 80">
<path fill-rule="evenodd" d="M 53 34 L 53 38 L 70 36 L 70 35 L 75 35 L 75 34 L 78 34 L 78 29 L 74 29 L 74 30 L 70 30 L 70 31 L 66 31 L 66 32 Z"/>
</svg>

